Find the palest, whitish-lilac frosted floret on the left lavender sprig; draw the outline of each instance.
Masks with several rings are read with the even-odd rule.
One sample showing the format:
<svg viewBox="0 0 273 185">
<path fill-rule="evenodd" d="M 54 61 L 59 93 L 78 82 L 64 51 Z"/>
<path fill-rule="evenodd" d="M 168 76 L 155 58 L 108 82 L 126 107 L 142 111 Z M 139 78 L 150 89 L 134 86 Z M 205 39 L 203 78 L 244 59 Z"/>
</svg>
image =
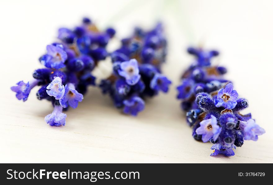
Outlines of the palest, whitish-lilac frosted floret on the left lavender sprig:
<svg viewBox="0 0 273 185">
<path fill-rule="evenodd" d="M 62 79 L 56 77 L 48 86 L 47 94 L 55 97 L 56 100 L 60 100 L 65 94 L 65 86 L 62 84 Z"/>
</svg>

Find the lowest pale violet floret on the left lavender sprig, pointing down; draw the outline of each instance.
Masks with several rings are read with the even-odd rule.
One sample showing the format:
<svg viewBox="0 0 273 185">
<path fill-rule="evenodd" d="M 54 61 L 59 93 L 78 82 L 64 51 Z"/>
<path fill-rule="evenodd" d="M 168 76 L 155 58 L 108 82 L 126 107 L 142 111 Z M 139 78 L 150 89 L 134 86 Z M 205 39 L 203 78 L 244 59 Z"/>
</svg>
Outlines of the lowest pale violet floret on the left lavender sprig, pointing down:
<svg viewBox="0 0 273 185">
<path fill-rule="evenodd" d="M 62 113 L 63 107 L 60 105 L 55 105 L 54 110 L 51 114 L 45 117 L 45 121 L 50 126 L 65 126 L 66 114 Z"/>
</svg>

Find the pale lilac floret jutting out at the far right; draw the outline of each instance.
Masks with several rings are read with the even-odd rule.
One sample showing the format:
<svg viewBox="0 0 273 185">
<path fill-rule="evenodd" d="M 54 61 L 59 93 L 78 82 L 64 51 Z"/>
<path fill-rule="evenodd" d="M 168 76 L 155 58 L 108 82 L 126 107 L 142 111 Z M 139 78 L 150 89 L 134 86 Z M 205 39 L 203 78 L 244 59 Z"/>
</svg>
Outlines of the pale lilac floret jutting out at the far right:
<svg viewBox="0 0 273 185">
<path fill-rule="evenodd" d="M 244 130 L 244 139 L 257 141 L 258 136 L 266 131 L 255 123 L 254 119 L 249 119 L 247 122 L 240 121 L 240 129 Z"/>
</svg>

